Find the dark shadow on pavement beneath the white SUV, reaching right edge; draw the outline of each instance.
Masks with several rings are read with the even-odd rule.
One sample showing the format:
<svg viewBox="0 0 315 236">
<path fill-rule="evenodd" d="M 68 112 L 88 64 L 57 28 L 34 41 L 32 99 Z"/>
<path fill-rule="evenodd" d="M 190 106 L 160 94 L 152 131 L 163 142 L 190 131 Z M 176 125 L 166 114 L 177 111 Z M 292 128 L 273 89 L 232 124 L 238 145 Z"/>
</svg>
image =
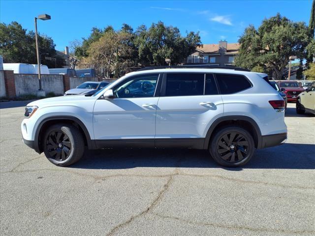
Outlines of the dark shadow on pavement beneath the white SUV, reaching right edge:
<svg viewBox="0 0 315 236">
<path fill-rule="evenodd" d="M 256 150 L 252 160 L 240 168 L 224 168 L 206 150 L 193 149 L 102 149 L 86 150 L 70 168 L 130 169 L 135 167 L 243 169 L 315 169 L 315 145 L 284 144 Z"/>
</svg>

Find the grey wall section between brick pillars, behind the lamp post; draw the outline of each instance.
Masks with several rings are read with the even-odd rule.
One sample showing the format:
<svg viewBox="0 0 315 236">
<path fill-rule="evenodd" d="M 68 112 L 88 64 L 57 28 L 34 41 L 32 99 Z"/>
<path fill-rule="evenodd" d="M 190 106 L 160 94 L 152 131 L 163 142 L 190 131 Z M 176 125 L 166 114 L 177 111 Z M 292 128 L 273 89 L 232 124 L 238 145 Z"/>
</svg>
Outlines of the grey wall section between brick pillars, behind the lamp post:
<svg viewBox="0 0 315 236">
<path fill-rule="evenodd" d="M 15 93 L 19 97 L 24 94 L 36 94 L 39 89 L 37 74 L 14 74 Z M 41 75 L 42 89 L 46 94 L 54 92 L 63 94 L 63 75 Z"/>
</svg>

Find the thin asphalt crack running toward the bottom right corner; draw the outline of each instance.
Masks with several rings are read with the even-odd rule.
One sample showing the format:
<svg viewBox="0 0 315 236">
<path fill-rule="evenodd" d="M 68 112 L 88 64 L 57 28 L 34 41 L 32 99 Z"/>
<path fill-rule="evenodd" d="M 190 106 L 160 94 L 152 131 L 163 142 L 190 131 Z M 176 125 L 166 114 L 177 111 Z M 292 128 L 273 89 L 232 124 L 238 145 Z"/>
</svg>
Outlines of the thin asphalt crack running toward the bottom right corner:
<svg viewBox="0 0 315 236">
<path fill-rule="evenodd" d="M 271 232 L 271 233 L 286 233 L 286 234 L 314 234 L 315 233 L 315 231 L 312 231 L 312 230 L 292 231 L 292 230 L 284 230 L 284 229 L 252 228 L 252 227 L 243 226 L 243 225 L 224 225 L 224 224 L 218 224 L 218 223 L 198 222 L 198 221 L 182 219 L 176 216 L 160 215 L 158 213 L 151 213 L 151 214 L 161 217 L 163 219 L 174 219 L 174 220 L 182 221 L 188 224 L 200 225 L 200 226 L 212 226 L 212 227 L 223 228 L 223 229 L 238 229 L 238 230 L 249 230 L 249 231 L 254 231 L 254 232 Z"/>
</svg>

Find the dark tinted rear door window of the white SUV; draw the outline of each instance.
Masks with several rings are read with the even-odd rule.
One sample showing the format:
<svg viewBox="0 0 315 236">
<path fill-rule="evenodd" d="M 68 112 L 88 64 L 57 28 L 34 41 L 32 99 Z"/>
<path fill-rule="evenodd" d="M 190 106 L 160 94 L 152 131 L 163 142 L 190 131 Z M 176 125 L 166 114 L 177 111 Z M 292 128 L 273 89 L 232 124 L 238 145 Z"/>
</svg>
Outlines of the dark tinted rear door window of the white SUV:
<svg viewBox="0 0 315 236">
<path fill-rule="evenodd" d="M 203 95 L 204 74 L 169 73 L 166 78 L 165 96 Z"/>
</svg>

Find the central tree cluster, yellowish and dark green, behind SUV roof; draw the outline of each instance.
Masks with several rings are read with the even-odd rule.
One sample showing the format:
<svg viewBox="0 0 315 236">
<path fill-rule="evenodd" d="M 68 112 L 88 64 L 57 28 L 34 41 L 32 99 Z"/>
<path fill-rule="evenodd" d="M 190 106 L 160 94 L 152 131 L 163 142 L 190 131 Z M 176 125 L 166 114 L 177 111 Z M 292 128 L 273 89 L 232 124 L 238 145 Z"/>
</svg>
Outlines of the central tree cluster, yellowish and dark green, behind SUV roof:
<svg viewBox="0 0 315 236">
<path fill-rule="evenodd" d="M 123 24 L 120 30 L 111 26 L 103 30 L 93 28 L 89 38 L 75 47 L 74 54 L 99 75 L 119 77 L 133 67 L 165 65 L 167 58 L 172 64 L 181 63 L 199 45 L 198 33 L 182 36 L 178 28 L 162 22 L 149 29 L 142 25 L 136 31 Z"/>
</svg>

